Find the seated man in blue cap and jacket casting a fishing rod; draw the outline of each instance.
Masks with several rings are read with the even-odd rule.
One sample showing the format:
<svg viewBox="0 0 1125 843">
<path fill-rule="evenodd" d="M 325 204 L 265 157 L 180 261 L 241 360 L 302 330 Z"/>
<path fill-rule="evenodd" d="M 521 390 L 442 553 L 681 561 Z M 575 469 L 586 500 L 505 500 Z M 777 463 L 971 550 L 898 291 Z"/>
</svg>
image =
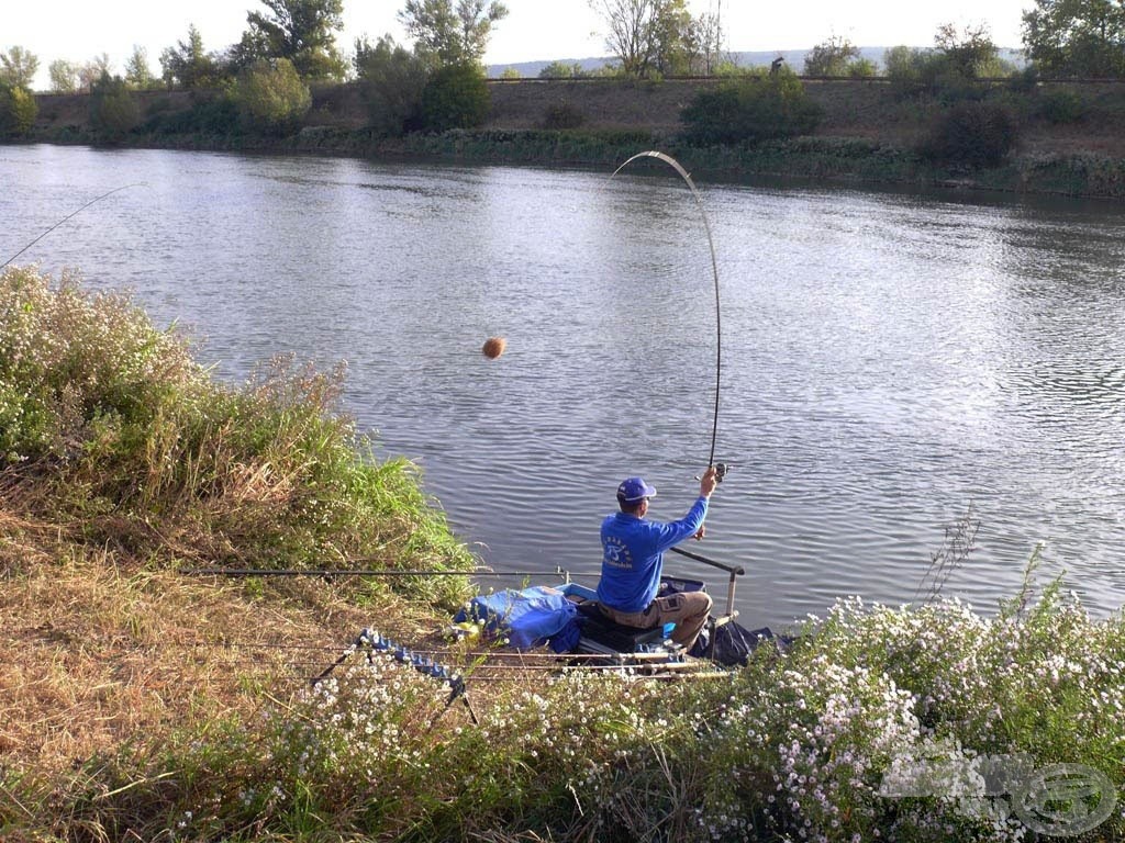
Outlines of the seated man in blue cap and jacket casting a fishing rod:
<svg viewBox="0 0 1125 843">
<path fill-rule="evenodd" d="M 703 538 L 708 499 L 719 482 L 712 466 L 700 478 L 700 496 L 680 520 L 646 520 L 648 501 L 656 489 L 639 477 L 618 487 L 619 513 L 602 522 L 602 579 L 597 601 L 602 613 L 623 626 L 648 629 L 675 622 L 672 640 L 691 650 L 711 611 L 704 591 L 658 597 L 664 552 L 688 536 Z"/>
</svg>

